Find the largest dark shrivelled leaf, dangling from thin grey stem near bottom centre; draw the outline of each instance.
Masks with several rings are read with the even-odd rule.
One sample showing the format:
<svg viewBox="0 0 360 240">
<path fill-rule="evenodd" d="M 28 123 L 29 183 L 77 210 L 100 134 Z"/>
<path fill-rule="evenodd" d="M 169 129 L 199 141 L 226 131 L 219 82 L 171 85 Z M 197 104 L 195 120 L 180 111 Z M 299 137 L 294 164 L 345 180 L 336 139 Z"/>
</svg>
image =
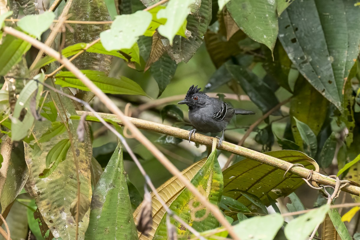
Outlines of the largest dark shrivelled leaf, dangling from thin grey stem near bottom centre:
<svg viewBox="0 0 360 240">
<path fill-rule="evenodd" d="M 151 214 L 151 195 L 145 186 L 145 194 L 144 201 L 142 203 L 140 218 L 138 222 L 138 226 L 136 228 L 139 232 L 141 232 L 145 236 L 149 236 L 149 232 L 151 231 L 151 225 L 153 224 L 153 218 Z"/>
</svg>

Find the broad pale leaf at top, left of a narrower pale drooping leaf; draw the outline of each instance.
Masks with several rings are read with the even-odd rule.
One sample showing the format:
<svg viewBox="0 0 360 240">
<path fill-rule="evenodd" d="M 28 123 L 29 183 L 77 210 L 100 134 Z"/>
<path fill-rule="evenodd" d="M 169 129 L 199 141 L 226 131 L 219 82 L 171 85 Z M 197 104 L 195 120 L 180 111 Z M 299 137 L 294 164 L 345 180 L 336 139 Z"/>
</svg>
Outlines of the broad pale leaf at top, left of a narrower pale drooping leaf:
<svg viewBox="0 0 360 240">
<path fill-rule="evenodd" d="M 152 15 L 138 11 L 116 16 L 110 30 L 100 33 L 101 42 L 108 51 L 131 48 L 147 30 Z"/>
</svg>

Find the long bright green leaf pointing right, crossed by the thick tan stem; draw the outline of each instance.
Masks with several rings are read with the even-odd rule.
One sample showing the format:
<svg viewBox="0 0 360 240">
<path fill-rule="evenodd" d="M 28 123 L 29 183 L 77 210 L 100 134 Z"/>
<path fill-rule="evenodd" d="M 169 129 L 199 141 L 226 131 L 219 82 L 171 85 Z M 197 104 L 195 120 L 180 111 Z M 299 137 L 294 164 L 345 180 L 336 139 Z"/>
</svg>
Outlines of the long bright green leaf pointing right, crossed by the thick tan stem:
<svg viewBox="0 0 360 240">
<path fill-rule="evenodd" d="M 121 79 L 107 77 L 105 73 L 93 70 L 82 70 L 81 72 L 105 93 L 147 96 L 138 83 L 127 77 L 121 77 Z M 75 87 L 80 90 L 90 91 L 72 72 L 56 74 L 55 84 L 62 87 Z"/>
</svg>

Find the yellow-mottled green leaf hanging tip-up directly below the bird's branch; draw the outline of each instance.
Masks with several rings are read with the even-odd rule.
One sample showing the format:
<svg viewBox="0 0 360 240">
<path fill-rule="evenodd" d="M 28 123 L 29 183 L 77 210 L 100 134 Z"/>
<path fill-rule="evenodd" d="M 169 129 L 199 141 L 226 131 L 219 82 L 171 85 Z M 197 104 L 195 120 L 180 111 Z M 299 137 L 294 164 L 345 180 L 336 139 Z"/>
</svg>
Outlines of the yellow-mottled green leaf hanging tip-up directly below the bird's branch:
<svg viewBox="0 0 360 240">
<path fill-rule="evenodd" d="M 217 150 L 213 150 L 209 155 L 204 166 L 196 173 L 191 180 L 191 183 L 195 187 L 201 188 L 210 203 L 218 205 L 220 204 L 221 193 L 223 188 L 223 178 L 221 174 L 221 168 L 217 162 Z M 184 189 L 179 196 L 171 203 L 170 209 L 185 222 L 189 223 L 195 230 L 199 232 L 211 230 L 219 226 L 216 218 L 212 213 L 206 213 L 206 210 L 200 206 L 201 203 L 196 200 L 194 195 L 188 190 Z M 197 209 L 197 210 L 195 210 Z M 208 214 L 208 215 L 207 215 Z M 166 229 L 166 215 L 164 214 L 159 226 L 156 230 L 155 239 L 167 239 Z M 203 217 L 203 216 L 206 217 Z M 202 218 L 201 221 L 194 219 Z M 171 218 L 171 223 L 175 225 L 177 234 L 189 237 L 191 233 L 180 222 Z"/>
</svg>

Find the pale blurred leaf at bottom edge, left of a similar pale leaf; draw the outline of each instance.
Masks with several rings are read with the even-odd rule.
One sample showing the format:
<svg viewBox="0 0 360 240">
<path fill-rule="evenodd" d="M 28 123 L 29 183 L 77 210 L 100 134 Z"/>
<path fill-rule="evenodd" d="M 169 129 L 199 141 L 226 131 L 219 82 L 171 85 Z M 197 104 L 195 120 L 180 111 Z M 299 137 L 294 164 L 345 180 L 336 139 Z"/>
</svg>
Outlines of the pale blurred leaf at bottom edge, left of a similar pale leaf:
<svg viewBox="0 0 360 240">
<path fill-rule="evenodd" d="M 275 213 L 241 221 L 234 226 L 234 231 L 242 240 L 273 240 L 283 223 L 284 218 Z"/>
</svg>

